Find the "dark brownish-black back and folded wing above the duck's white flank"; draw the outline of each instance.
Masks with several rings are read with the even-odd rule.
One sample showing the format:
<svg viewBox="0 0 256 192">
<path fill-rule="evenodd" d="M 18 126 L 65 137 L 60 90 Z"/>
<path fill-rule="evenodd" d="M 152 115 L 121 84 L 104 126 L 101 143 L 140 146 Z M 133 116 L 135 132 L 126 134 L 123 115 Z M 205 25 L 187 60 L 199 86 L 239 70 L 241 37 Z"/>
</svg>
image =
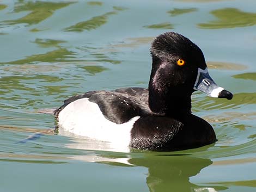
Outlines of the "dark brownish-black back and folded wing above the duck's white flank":
<svg viewBox="0 0 256 192">
<path fill-rule="evenodd" d="M 89 91 L 70 97 L 55 111 L 54 115 L 58 119 L 62 109 L 81 98 L 89 98 L 90 102 L 99 106 L 106 119 L 118 124 L 127 122 L 135 116 L 147 116 L 152 113 L 148 106 L 148 89 L 122 88 L 113 91 Z"/>
</svg>

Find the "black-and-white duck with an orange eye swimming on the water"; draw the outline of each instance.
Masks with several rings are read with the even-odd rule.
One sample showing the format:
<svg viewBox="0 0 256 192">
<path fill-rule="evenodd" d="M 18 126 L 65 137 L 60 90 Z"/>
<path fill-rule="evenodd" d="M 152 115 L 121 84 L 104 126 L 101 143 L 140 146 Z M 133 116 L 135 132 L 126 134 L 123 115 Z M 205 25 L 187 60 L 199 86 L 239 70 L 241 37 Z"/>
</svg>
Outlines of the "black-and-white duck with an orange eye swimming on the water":
<svg viewBox="0 0 256 192">
<path fill-rule="evenodd" d="M 212 126 L 191 112 L 191 95 L 233 94 L 210 77 L 201 49 L 185 36 L 166 32 L 150 48 L 148 88 L 96 90 L 75 95 L 54 111 L 58 128 L 130 150 L 178 151 L 217 141 Z"/>
</svg>

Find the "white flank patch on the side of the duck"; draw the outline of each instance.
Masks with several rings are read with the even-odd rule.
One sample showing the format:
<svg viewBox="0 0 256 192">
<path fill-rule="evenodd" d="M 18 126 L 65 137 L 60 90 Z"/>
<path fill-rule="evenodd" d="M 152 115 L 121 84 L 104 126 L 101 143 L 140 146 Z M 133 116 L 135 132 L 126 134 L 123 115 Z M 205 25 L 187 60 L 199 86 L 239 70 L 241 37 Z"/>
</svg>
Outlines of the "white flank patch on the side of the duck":
<svg viewBox="0 0 256 192">
<path fill-rule="evenodd" d="M 139 116 L 133 117 L 126 123 L 117 124 L 107 120 L 96 103 L 90 102 L 88 98 L 81 98 L 62 109 L 58 118 L 59 127 L 65 131 L 99 141 L 107 141 L 111 148 L 116 148 L 117 151 L 127 151 L 131 129 Z"/>
</svg>

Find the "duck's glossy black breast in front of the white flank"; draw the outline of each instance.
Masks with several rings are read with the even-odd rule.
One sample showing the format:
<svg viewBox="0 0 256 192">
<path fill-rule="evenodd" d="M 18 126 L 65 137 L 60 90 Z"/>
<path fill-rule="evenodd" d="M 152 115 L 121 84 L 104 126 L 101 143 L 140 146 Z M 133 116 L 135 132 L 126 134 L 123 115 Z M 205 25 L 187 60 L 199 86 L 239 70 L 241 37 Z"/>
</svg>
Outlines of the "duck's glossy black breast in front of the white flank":
<svg viewBox="0 0 256 192">
<path fill-rule="evenodd" d="M 215 141 L 216 135 L 211 125 L 193 114 L 180 115 L 178 119 L 146 116 L 133 125 L 130 146 L 141 150 L 175 151 Z"/>
</svg>

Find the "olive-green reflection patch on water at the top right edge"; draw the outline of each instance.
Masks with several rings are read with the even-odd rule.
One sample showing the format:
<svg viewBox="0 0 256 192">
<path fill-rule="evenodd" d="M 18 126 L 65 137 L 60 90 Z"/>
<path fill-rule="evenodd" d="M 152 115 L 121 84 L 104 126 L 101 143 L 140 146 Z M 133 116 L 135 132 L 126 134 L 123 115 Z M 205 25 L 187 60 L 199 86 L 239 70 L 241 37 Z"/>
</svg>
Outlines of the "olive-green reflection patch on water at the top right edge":
<svg viewBox="0 0 256 192">
<path fill-rule="evenodd" d="M 198 26 L 204 29 L 223 29 L 234 27 L 246 27 L 256 24 L 256 13 L 241 11 L 236 8 L 224 8 L 211 11 L 211 14 L 218 20 L 208 23 L 199 23 Z"/>
</svg>

